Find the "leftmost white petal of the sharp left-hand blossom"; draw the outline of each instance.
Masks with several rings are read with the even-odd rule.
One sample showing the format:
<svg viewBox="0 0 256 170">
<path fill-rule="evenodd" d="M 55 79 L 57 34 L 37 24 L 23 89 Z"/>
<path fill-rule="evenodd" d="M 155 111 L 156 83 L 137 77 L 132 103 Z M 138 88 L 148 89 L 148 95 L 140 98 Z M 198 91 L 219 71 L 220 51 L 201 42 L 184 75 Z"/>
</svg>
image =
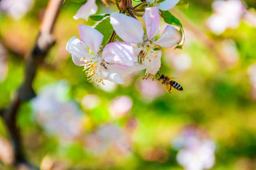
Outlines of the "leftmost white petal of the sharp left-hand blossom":
<svg viewBox="0 0 256 170">
<path fill-rule="evenodd" d="M 68 40 L 66 50 L 72 54 L 72 60 L 77 66 L 81 66 L 84 62 L 80 62 L 81 59 L 85 57 L 85 59 L 90 59 L 93 56 L 87 52 L 87 46 L 80 41 L 80 39 L 73 36 Z"/>
</svg>

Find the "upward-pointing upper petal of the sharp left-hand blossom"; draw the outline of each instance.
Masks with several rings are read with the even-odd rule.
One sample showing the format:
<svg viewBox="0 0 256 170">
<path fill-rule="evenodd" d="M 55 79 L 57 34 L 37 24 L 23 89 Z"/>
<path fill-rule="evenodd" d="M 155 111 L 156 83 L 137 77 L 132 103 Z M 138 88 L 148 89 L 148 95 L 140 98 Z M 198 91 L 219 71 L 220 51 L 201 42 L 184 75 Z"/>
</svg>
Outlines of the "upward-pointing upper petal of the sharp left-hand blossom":
<svg viewBox="0 0 256 170">
<path fill-rule="evenodd" d="M 96 54 L 99 51 L 102 43 L 103 35 L 87 25 L 79 24 L 79 36 L 81 40 L 90 47 L 90 49 Z"/>
</svg>

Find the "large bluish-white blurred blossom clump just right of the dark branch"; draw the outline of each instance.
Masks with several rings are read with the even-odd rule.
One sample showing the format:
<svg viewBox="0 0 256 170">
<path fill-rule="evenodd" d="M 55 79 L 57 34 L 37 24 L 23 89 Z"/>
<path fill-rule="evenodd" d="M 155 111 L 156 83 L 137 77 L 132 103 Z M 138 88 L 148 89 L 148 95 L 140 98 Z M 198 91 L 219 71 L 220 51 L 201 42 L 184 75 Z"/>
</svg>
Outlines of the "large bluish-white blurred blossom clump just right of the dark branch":
<svg viewBox="0 0 256 170">
<path fill-rule="evenodd" d="M 81 134 L 82 113 L 76 103 L 67 99 L 69 85 L 66 81 L 44 87 L 31 101 L 38 123 L 49 134 L 73 140 Z"/>
</svg>

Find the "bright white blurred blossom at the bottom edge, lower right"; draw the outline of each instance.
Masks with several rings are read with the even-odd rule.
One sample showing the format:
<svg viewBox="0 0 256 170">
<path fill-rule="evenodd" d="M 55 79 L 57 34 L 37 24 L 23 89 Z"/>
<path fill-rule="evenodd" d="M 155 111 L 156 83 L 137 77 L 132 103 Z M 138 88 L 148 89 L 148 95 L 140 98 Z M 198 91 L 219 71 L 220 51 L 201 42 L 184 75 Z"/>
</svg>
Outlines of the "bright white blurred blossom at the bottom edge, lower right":
<svg viewBox="0 0 256 170">
<path fill-rule="evenodd" d="M 179 150 L 177 160 L 186 170 L 209 169 L 214 165 L 215 144 L 196 127 L 186 127 L 173 146 Z"/>
</svg>

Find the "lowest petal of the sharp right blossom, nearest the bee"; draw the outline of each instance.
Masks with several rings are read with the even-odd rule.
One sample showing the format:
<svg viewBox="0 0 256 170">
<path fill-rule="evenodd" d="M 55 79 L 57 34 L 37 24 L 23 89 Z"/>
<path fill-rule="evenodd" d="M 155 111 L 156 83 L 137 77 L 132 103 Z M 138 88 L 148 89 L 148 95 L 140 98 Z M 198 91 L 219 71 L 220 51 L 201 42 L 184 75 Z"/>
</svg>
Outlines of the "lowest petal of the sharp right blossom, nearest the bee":
<svg viewBox="0 0 256 170">
<path fill-rule="evenodd" d="M 145 60 L 142 60 L 143 65 L 146 67 L 146 70 L 148 73 L 151 74 L 156 74 L 157 71 L 159 71 L 160 67 L 161 67 L 161 55 L 162 55 L 162 51 L 158 50 L 158 51 L 154 51 L 154 50 L 150 50 L 147 54 L 147 58 L 145 58 Z"/>
</svg>

